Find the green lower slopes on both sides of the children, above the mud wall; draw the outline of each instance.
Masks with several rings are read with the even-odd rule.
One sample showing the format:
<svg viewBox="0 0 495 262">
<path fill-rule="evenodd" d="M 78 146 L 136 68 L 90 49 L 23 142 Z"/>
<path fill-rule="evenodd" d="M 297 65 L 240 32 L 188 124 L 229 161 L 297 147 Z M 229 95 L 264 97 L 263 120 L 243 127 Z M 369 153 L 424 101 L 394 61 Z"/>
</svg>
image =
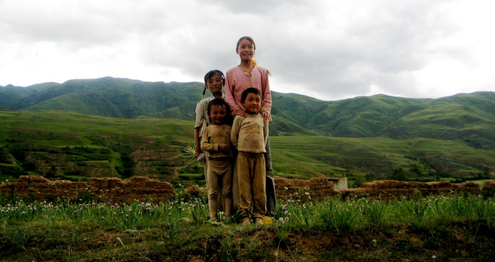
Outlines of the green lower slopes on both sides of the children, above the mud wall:
<svg viewBox="0 0 495 262">
<path fill-rule="evenodd" d="M 154 167 L 145 169 L 148 170 L 147 174 L 163 180 L 177 178 L 169 174 L 198 176 L 202 172 L 202 168 L 192 168 L 195 167 L 195 162 L 191 169 L 180 172 L 178 168 L 185 164 L 184 160 L 170 157 L 182 153 L 181 149 L 186 144 L 193 144 L 192 121 L 145 117 L 107 118 L 66 111 L 0 111 L 0 121 L 5 127 L 0 130 L 0 143 L 10 141 L 3 144 L 4 146 L 19 144 L 48 149 L 66 146 L 110 148 L 112 153 L 104 158 L 114 165 L 121 162 L 121 155 L 133 155 L 138 164 Z M 294 178 L 346 174 L 386 177 L 397 167 L 406 171 L 418 169 L 418 176 L 430 177 L 435 170 L 449 174 L 466 174 L 489 170 L 493 172 L 495 168 L 495 151 L 473 148 L 461 141 L 307 135 L 272 136 L 270 139 L 275 173 Z M 50 156 L 45 151 L 36 153 L 33 157 L 43 155 L 44 158 L 40 160 L 45 160 L 46 163 L 40 161 L 38 164 L 48 168 L 55 162 L 50 162 L 50 159 L 56 159 L 57 154 L 62 152 L 54 152 Z M 165 156 L 167 154 L 169 157 Z M 83 155 L 75 157 L 73 161 L 77 163 L 94 158 L 95 156 Z M 187 175 L 188 173 L 191 175 Z"/>
</svg>

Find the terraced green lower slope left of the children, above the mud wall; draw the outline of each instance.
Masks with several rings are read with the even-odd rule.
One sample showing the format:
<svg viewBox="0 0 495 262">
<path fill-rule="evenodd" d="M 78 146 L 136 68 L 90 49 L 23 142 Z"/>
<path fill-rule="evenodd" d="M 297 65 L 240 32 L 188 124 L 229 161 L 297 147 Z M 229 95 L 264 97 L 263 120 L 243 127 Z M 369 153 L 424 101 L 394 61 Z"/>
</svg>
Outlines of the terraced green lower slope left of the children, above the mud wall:
<svg viewBox="0 0 495 262">
<path fill-rule="evenodd" d="M 12 154 L 7 157 L 10 161 L 0 165 L 18 167 L 24 163 L 25 167 L 26 162 L 34 163 L 36 169 L 33 171 L 42 174 L 55 167 L 59 174 L 114 176 L 117 171 L 113 169 L 123 170 L 125 161 L 134 161 L 134 168 L 140 163 L 156 164 L 147 160 L 148 156 L 139 156 L 147 151 L 156 152 L 152 157 L 171 155 L 169 164 L 181 167 L 186 160 L 175 156 L 182 153 L 181 149 L 191 140 L 192 134 L 191 121 L 105 118 L 66 111 L 0 111 L 0 121 L 5 127 L 0 130 L 0 145 Z M 76 146 L 100 149 L 74 153 Z M 12 160 L 16 148 L 27 151 L 25 160 L 19 160 L 20 157 Z M 99 153 L 105 148 L 105 153 Z M 98 163 L 101 160 L 108 164 L 102 166 Z M 163 180 L 168 179 L 164 177 Z"/>
</svg>

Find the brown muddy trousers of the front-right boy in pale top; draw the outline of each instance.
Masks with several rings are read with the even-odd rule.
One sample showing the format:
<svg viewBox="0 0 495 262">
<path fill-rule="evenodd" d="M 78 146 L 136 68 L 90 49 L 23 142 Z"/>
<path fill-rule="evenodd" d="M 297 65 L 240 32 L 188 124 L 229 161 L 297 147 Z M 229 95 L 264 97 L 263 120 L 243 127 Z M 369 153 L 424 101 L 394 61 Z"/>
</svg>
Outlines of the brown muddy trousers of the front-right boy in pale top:
<svg viewBox="0 0 495 262">
<path fill-rule="evenodd" d="M 267 212 L 265 167 L 262 153 L 244 155 L 244 152 L 239 152 L 237 155 L 239 213 L 242 217 L 263 218 Z"/>
</svg>

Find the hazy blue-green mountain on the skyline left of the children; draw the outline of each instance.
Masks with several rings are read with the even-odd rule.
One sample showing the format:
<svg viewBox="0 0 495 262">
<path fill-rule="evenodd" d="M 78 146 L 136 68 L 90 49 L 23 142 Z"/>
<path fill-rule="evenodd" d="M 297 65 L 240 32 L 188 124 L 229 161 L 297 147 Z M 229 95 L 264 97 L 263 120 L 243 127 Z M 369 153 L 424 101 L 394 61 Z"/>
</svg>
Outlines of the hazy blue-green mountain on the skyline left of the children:
<svg viewBox="0 0 495 262">
<path fill-rule="evenodd" d="M 24 109 L 60 109 L 82 114 L 135 118 L 184 106 L 184 103 L 189 102 L 188 98 L 182 97 L 182 91 L 177 91 L 170 84 L 144 83 L 128 79 L 103 78 L 92 80 L 89 84 L 79 80 L 57 88 L 43 91 L 38 97 L 53 93 L 58 93 L 58 96 L 39 103 L 35 103 L 36 100 L 28 101 Z M 193 113 L 193 109 L 191 110 L 187 111 L 187 114 Z"/>
</svg>

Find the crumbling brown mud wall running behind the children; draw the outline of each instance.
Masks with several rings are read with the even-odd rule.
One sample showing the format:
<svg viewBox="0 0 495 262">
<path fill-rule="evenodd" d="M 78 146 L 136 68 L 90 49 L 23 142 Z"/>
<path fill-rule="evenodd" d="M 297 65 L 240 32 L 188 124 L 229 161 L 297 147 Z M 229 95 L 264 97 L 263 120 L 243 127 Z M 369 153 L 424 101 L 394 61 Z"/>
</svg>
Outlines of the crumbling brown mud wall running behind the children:
<svg viewBox="0 0 495 262">
<path fill-rule="evenodd" d="M 370 199 L 393 199 L 400 196 L 427 196 L 469 192 L 480 194 L 483 191 L 495 192 L 495 181 L 487 180 L 480 187 L 475 183 L 451 184 L 439 182 L 401 182 L 395 180 L 378 180 L 363 183 L 363 187 L 349 190 L 334 190 L 332 178 L 311 178 L 309 180 L 286 179 L 275 177 L 276 198 L 307 201 L 326 197 L 366 197 Z M 0 185 L 3 196 L 22 196 L 38 201 L 54 201 L 57 199 L 78 199 L 84 193 L 91 193 L 95 200 L 132 202 L 132 201 L 166 201 L 175 197 L 172 185 L 144 176 L 133 176 L 127 181 L 119 178 L 89 178 L 87 182 L 71 182 L 68 180 L 50 181 L 42 176 L 21 176 L 15 182 Z M 185 194 L 206 194 L 197 185 L 192 185 Z"/>
</svg>

